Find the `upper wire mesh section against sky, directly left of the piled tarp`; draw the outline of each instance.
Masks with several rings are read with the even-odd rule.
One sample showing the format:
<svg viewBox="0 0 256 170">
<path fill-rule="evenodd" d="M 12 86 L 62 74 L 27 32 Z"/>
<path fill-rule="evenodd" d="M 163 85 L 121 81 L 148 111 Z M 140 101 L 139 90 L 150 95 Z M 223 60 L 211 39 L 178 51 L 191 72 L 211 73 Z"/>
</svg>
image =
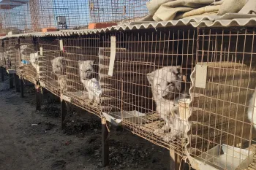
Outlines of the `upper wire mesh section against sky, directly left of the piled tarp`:
<svg viewBox="0 0 256 170">
<path fill-rule="evenodd" d="M 90 20 L 92 23 L 116 23 L 135 21 L 148 14 L 148 0 L 90 0 Z"/>
</svg>

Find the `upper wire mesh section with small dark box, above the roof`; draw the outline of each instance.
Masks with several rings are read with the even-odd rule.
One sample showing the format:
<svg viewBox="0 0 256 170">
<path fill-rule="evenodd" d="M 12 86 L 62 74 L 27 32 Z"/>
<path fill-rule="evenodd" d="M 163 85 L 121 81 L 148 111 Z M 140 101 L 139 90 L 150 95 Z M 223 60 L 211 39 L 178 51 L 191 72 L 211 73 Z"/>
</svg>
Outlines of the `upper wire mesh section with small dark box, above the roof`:
<svg viewBox="0 0 256 170">
<path fill-rule="evenodd" d="M 33 31 L 87 28 L 89 24 L 87 0 L 31 0 L 29 6 Z"/>
</svg>

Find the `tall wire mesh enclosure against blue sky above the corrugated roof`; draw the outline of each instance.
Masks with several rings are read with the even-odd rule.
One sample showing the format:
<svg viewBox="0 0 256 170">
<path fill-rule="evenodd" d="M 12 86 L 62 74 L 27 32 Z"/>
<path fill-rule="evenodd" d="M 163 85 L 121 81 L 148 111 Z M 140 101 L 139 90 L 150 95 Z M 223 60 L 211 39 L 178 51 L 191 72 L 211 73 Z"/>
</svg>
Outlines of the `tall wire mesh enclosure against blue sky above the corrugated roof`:
<svg viewBox="0 0 256 170">
<path fill-rule="evenodd" d="M 89 23 L 140 20 L 148 13 L 148 0 L 3 0 L 0 34 L 26 33 L 42 28 L 81 29 Z"/>
</svg>

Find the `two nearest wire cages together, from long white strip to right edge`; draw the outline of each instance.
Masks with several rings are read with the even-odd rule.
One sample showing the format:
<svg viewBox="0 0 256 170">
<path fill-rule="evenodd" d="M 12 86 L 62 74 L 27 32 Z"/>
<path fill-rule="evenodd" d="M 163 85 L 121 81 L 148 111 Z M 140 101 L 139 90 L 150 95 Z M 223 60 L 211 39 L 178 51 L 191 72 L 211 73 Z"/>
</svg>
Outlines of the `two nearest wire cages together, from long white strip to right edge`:
<svg viewBox="0 0 256 170">
<path fill-rule="evenodd" d="M 194 169 L 255 169 L 255 28 L 108 33 L 102 114 Z M 202 166 L 202 167 L 201 167 Z"/>
</svg>

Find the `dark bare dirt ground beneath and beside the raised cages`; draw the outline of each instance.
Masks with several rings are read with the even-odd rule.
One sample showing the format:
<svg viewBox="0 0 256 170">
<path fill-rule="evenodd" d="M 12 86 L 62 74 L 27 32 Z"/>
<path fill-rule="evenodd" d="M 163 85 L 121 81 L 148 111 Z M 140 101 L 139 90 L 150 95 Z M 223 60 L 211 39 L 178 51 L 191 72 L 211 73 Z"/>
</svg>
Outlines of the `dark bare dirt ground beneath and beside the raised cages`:
<svg viewBox="0 0 256 170">
<path fill-rule="evenodd" d="M 25 85 L 25 98 L 0 82 L 0 169 L 170 169 L 168 150 L 113 128 L 110 132 L 110 166 L 101 165 L 99 117 L 68 106 L 61 131 L 59 98 L 43 94 L 41 111 L 35 111 L 33 85 Z"/>
</svg>

